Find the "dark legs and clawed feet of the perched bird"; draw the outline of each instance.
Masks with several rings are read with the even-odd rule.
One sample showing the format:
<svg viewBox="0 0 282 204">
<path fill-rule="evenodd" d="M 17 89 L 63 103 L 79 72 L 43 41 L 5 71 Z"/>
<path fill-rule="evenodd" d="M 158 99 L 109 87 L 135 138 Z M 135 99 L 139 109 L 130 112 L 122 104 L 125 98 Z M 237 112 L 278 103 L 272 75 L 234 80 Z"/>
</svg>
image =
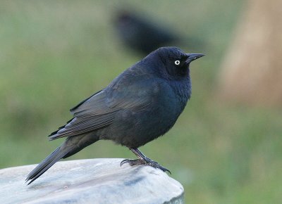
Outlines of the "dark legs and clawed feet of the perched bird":
<svg viewBox="0 0 282 204">
<path fill-rule="evenodd" d="M 155 162 L 151 160 L 150 158 L 147 158 L 139 149 L 137 148 L 130 148 L 130 151 L 132 151 L 135 155 L 137 155 L 136 160 L 130 160 L 130 159 L 125 159 L 121 161 L 121 165 L 128 163 L 130 166 L 135 166 L 135 165 L 149 165 L 151 167 L 155 167 L 157 169 L 162 170 L 163 172 L 171 172 L 166 169 L 165 167 L 162 167 L 159 165 L 158 162 Z"/>
</svg>

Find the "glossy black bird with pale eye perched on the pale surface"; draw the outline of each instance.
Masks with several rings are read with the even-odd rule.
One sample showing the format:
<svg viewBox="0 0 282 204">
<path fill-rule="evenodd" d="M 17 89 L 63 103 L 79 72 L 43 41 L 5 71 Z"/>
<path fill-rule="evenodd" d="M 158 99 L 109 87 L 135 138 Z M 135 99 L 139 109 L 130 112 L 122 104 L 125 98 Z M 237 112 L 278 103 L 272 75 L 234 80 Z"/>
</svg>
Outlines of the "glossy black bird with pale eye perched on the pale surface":
<svg viewBox="0 0 282 204">
<path fill-rule="evenodd" d="M 100 139 L 127 146 L 137 160 L 121 165 L 150 165 L 168 171 L 138 148 L 168 132 L 190 98 L 189 65 L 204 56 L 163 47 L 121 73 L 108 87 L 71 109 L 73 119 L 51 133 L 50 140 L 67 137 L 45 158 L 26 181 L 32 183 L 61 158 L 78 153 Z M 169 171 L 168 171 L 169 172 Z"/>
</svg>

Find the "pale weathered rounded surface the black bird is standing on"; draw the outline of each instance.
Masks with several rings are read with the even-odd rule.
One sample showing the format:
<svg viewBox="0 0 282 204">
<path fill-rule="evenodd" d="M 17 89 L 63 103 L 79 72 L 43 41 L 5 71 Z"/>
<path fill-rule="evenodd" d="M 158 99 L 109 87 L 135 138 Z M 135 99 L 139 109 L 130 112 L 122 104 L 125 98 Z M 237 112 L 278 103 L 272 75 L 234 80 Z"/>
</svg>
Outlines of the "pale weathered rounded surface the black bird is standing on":
<svg viewBox="0 0 282 204">
<path fill-rule="evenodd" d="M 35 165 L 0 170 L 0 203 L 183 203 L 178 181 L 153 167 L 120 167 L 121 160 L 57 162 L 29 186 Z"/>
</svg>

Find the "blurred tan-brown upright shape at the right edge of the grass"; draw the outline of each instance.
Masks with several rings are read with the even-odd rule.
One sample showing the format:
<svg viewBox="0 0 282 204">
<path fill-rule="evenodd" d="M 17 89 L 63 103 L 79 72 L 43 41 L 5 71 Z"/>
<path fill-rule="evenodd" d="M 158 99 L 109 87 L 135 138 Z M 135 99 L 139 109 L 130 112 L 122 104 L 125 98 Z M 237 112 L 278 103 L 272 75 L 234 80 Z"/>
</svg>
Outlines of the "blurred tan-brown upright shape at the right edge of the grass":
<svg viewBox="0 0 282 204">
<path fill-rule="evenodd" d="M 250 0 L 223 60 L 220 94 L 234 102 L 282 105 L 282 1 Z"/>
</svg>

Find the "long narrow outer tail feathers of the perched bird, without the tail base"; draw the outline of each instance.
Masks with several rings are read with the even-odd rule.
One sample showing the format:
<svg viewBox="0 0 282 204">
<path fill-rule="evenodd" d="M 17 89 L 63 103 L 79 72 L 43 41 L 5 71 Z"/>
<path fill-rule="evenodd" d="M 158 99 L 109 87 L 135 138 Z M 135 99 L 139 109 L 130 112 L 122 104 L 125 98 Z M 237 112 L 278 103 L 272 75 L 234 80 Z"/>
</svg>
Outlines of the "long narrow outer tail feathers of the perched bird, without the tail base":
<svg viewBox="0 0 282 204">
<path fill-rule="evenodd" d="M 47 158 L 40 162 L 39 165 L 37 165 L 37 167 L 35 167 L 35 169 L 27 175 L 27 178 L 25 179 L 25 181 L 28 182 L 27 185 L 31 184 L 33 181 L 35 181 L 35 179 L 40 177 L 52 165 L 54 165 L 54 163 L 67 155 L 69 151 L 69 148 L 64 148 L 63 150 L 61 149 L 61 147 L 56 148 L 54 152 L 52 152 Z"/>
</svg>

